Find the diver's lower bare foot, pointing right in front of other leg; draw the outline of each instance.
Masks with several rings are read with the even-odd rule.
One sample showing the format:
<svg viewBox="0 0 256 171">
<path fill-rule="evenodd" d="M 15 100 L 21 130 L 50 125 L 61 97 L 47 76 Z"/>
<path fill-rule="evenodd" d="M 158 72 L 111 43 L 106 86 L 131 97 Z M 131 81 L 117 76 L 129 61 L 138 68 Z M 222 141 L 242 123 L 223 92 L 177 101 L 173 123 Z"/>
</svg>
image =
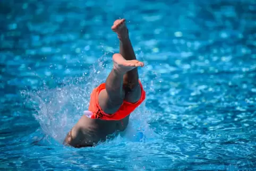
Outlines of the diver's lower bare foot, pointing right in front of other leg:
<svg viewBox="0 0 256 171">
<path fill-rule="evenodd" d="M 135 67 L 143 67 L 144 63 L 137 61 L 137 60 L 130 60 L 126 61 L 121 54 L 114 54 L 113 55 L 113 62 L 114 62 L 114 70 L 126 73 L 135 69 Z"/>
</svg>

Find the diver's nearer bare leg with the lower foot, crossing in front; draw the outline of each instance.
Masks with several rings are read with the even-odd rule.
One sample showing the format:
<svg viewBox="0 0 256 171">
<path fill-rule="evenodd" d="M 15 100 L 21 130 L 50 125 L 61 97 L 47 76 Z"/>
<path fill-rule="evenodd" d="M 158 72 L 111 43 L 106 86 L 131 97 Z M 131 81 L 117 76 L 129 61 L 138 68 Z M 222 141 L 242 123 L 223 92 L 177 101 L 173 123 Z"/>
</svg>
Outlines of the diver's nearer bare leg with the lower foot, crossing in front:
<svg viewBox="0 0 256 171">
<path fill-rule="evenodd" d="M 121 54 L 113 55 L 114 66 L 106 80 L 106 89 L 99 93 L 99 105 L 107 114 L 115 113 L 123 104 L 123 77 L 126 72 L 144 66 L 137 60 L 126 61 Z"/>
</svg>

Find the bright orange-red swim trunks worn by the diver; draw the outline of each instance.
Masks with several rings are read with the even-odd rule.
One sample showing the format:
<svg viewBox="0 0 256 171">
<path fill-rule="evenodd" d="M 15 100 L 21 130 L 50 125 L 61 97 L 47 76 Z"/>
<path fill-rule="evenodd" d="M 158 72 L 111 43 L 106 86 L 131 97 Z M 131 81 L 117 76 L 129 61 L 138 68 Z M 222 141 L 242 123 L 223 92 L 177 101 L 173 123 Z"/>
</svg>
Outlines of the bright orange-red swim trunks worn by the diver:
<svg viewBox="0 0 256 171">
<path fill-rule="evenodd" d="M 143 87 L 140 81 L 139 81 L 139 84 L 141 88 L 141 97 L 139 101 L 135 103 L 123 101 L 122 106 L 117 110 L 117 112 L 111 115 L 103 112 L 103 110 L 99 106 L 99 101 L 98 101 L 99 93 L 101 90 L 106 89 L 105 83 L 100 84 L 97 88 L 93 89 L 91 93 L 91 99 L 90 99 L 90 105 L 89 105 L 89 110 L 93 113 L 91 118 L 92 119 L 100 118 L 103 120 L 121 120 L 126 116 L 130 115 L 133 112 L 133 110 L 135 110 L 136 107 L 140 106 L 140 104 L 146 98 L 146 92 L 143 90 Z"/>
</svg>

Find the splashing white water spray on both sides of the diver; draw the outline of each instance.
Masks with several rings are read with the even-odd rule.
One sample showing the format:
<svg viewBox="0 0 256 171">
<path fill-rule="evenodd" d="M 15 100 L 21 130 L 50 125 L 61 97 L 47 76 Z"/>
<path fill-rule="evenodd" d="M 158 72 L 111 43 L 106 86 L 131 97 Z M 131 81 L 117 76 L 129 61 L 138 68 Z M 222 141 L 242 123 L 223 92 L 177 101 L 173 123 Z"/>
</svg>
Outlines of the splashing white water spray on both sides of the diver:
<svg viewBox="0 0 256 171">
<path fill-rule="evenodd" d="M 80 78 L 66 79 L 65 86 L 50 89 L 47 86 L 37 91 L 26 91 L 27 101 L 35 109 L 33 114 L 42 132 L 62 143 L 66 133 L 88 109 L 93 88 L 106 80 L 112 61 L 104 55 L 88 73 Z M 129 127 L 122 138 L 129 141 L 145 141 L 153 135 L 146 117 L 146 108 L 141 105 L 131 116 Z M 147 135 L 147 136 L 146 136 Z M 120 140 L 120 138 L 118 139 Z"/>
</svg>

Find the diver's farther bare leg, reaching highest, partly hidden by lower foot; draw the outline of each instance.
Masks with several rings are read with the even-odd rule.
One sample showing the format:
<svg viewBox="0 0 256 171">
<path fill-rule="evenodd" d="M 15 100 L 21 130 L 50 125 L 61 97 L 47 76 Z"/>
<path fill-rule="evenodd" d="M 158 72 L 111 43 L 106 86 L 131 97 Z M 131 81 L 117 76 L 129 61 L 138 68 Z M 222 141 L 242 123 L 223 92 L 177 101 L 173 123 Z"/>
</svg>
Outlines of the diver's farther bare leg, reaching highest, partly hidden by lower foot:
<svg viewBox="0 0 256 171">
<path fill-rule="evenodd" d="M 120 54 L 127 60 L 136 60 L 136 56 L 129 38 L 129 32 L 125 25 L 125 20 L 116 20 L 112 26 L 112 30 L 117 33 L 120 39 Z M 123 85 L 125 90 L 125 100 L 136 102 L 140 99 L 141 88 L 139 86 L 138 69 L 126 72 L 123 77 Z"/>
</svg>

